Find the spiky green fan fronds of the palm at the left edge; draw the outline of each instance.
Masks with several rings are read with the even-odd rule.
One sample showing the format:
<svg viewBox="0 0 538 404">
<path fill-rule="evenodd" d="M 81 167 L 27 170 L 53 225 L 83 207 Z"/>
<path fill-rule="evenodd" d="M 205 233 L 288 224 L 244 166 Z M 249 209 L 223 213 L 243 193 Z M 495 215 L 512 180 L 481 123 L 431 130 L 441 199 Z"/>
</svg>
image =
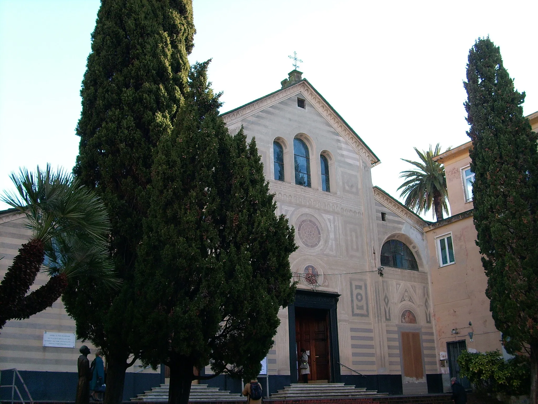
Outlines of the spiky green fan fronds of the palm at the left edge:
<svg viewBox="0 0 538 404">
<path fill-rule="evenodd" d="M 26 215 L 25 227 L 45 243 L 44 268 L 59 273 L 100 278 L 110 288 L 119 280 L 108 253 L 110 221 L 100 198 L 61 169 L 11 174 L 15 192 L 1 199 Z"/>
</svg>

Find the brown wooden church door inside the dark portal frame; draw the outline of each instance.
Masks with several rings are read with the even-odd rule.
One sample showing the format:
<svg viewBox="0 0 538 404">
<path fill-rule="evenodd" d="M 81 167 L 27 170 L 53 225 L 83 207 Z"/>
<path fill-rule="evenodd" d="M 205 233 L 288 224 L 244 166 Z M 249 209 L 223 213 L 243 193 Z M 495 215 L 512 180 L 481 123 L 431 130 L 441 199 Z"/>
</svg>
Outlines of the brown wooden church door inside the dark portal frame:
<svg viewBox="0 0 538 404">
<path fill-rule="evenodd" d="M 308 380 L 330 380 L 329 312 L 328 310 L 295 308 L 295 343 L 297 358 L 301 361 L 301 349 L 310 351 Z M 301 380 L 301 369 L 299 380 Z"/>
</svg>

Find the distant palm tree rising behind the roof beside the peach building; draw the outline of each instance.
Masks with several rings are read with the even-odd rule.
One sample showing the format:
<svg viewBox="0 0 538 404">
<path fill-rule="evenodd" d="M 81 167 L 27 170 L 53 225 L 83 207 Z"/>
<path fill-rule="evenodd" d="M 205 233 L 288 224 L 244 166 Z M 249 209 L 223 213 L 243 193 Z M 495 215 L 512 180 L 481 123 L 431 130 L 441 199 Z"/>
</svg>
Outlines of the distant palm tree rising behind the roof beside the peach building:
<svg viewBox="0 0 538 404">
<path fill-rule="evenodd" d="M 419 151 L 416 147 L 414 149 L 421 161 L 402 158 L 403 161 L 413 164 L 416 169 L 401 172 L 400 178 L 405 178 L 406 181 L 398 188 L 398 191 L 403 189 L 400 198 L 405 197 L 405 206 L 417 214 L 428 212 L 433 205 L 434 217 L 439 221 L 443 219 L 443 211 L 448 214 L 448 191 L 444 166 L 433 159 L 441 154 L 441 146 L 437 143 L 435 150 L 431 150 L 430 144 L 428 151 Z"/>
</svg>

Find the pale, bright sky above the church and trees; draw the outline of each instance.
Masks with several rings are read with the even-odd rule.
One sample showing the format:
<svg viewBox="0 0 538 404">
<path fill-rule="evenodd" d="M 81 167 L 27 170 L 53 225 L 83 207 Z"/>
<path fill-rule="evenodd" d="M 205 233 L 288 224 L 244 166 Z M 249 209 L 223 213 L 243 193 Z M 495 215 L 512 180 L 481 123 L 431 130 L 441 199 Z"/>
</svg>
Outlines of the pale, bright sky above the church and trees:
<svg viewBox="0 0 538 404">
<path fill-rule="evenodd" d="M 80 84 L 96 0 L 0 0 L 0 190 L 20 166 L 71 170 L 78 152 Z M 538 2 L 194 0 L 190 61 L 213 58 L 222 112 L 303 77 L 380 158 L 373 183 L 398 196 L 400 158 L 413 147 L 469 140 L 462 85 L 469 48 L 500 46 L 524 112 L 538 110 Z M 0 209 L 7 206 L 0 203 Z M 426 215 L 431 219 L 431 215 Z"/>
</svg>

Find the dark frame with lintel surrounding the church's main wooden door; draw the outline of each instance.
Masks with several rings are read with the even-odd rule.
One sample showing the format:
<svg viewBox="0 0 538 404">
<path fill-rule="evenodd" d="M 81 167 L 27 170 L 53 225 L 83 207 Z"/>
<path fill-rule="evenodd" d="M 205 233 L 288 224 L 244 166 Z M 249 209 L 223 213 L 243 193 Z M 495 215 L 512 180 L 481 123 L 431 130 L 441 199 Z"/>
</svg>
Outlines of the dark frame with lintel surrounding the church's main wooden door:
<svg viewBox="0 0 538 404">
<path fill-rule="evenodd" d="M 299 380 L 299 375 L 297 374 L 297 348 L 295 346 L 295 307 L 329 311 L 329 382 L 340 382 L 340 350 L 338 348 L 338 317 L 336 311 L 339 296 L 337 293 L 303 289 L 297 289 L 295 292 L 295 301 L 288 305 L 289 374 L 292 383 Z"/>
</svg>

